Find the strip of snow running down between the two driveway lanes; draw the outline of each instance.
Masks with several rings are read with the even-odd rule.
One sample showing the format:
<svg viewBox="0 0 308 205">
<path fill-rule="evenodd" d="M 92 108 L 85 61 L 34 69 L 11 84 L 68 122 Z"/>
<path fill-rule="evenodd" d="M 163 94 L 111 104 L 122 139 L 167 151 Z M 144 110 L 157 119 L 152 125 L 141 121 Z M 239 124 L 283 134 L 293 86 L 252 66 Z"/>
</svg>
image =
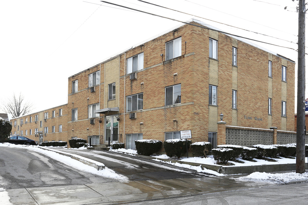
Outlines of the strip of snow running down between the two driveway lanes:
<svg viewBox="0 0 308 205">
<path fill-rule="evenodd" d="M 70 167 L 73 167 L 75 169 L 81 170 L 81 171 L 86 171 L 92 174 L 96 174 L 96 175 L 100 175 L 103 177 L 107 177 L 107 178 L 113 178 L 113 179 L 117 179 L 119 181 L 127 181 L 128 178 L 124 175 L 120 175 L 115 173 L 115 171 L 105 167 L 105 169 L 103 170 L 97 170 L 94 167 L 91 167 L 89 165 L 83 164 L 82 162 L 79 162 L 78 160 L 74 160 L 71 157 L 68 156 L 63 156 L 60 155 L 56 152 L 53 151 L 49 151 L 49 150 L 45 150 L 45 149 L 41 149 L 38 146 L 26 146 L 26 145 L 16 145 L 16 144 L 10 144 L 10 143 L 0 143 L 0 146 L 4 146 L 4 147 L 12 147 L 12 148 L 24 148 L 24 149 L 30 149 L 33 150 L 35 152 L 39 152 L 42 153 L 44 155 L 47 155 L 49 157 L 51 157 L 52 159 L 58 160 Z M 78 156 L 79 158 L 83 158 L 81 156 Z M 94 160 L 90 160 L 89 161 L 95 162 Z M 102 164 L 100 162 L 96 162 L 96 164 Z"/>
</svg>

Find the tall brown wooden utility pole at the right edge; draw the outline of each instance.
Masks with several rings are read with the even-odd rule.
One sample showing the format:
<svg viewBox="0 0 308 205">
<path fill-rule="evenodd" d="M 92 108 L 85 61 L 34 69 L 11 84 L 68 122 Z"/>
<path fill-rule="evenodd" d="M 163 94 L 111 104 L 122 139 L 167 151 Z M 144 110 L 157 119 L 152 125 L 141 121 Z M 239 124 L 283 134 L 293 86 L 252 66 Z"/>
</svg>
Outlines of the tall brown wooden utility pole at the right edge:
<svg viewBox="0 0 308 205">
<path fill-rule="evenodd" d="M 296 173 L 305 172 L 305 0 L 298 9 Z"/>
</svg>

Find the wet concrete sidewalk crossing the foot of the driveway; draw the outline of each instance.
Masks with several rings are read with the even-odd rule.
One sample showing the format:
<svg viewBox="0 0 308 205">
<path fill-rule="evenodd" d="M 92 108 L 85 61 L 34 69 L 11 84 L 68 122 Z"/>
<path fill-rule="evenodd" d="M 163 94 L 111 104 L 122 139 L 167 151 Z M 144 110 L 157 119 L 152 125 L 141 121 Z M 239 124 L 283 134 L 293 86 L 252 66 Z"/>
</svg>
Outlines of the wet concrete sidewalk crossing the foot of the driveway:
<svg viewBox="0 0 308 205">
<path fill-rule="evenodd" d="M 83 205 L 140 202 L 169 197 L 200 195 L 265 186 L 239 183 L 232 177 L 201 177 L 148 181 L 91 183 L 70 186 L 36 187 L 0 191 L 2 205 Z M 2 201 L 5 195 L 9 202 Z M 7 197 L 6 197 L 7 198 Z"/>
</svg>

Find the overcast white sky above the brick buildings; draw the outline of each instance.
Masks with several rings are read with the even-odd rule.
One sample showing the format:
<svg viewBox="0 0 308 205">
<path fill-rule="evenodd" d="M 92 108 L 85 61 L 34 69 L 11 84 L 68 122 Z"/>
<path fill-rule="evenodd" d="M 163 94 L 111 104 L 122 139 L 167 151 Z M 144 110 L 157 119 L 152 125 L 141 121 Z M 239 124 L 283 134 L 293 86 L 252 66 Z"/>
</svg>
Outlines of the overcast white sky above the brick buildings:
<svg viewBox="0 0 308 205">
<path fill-rule="evenodd" d="M 109 2 L 180 21 L 196 18 L 232 34 L 297 49 L 298 1 L 148 0 L 195 16 L 136 0 Z M 21 92 L 34 104 L 32 112 L 66 104 L 71 75 L 180 24 L 97 0 L 0 1 L 0 19 L 0 103 Z M 254 43 L 297 62 L 292 49 Z"/>
</svg>

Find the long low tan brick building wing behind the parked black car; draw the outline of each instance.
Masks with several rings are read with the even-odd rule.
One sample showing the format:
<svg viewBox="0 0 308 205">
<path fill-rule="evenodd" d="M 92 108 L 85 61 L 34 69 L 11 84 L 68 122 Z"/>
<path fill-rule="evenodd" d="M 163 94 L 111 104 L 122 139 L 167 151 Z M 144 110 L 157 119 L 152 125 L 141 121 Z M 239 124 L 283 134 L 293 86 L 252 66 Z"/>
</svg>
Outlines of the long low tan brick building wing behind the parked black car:
<svg viewBox="0 0 308 205">
<path fill-rule="evenodd" d="M 67 104 L 15 117 L 11 134 L 26 136 L 38 143 L 67 140 Z"/>
</svg>

